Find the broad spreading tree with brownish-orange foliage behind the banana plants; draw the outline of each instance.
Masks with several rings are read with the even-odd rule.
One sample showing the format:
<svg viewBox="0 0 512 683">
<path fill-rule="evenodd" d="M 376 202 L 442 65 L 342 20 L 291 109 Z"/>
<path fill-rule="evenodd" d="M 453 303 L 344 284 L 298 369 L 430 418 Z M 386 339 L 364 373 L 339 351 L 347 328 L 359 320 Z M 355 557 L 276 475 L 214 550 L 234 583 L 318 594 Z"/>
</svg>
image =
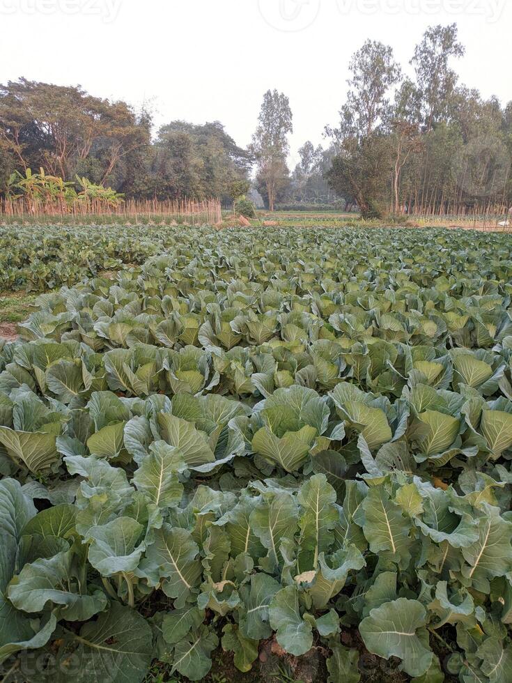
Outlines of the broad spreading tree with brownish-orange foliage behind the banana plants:
<svg viewBox="0 0 512 683">
<path fill-rule="evenodd" d="M 130 152 L 149 144 L 149 135 L 125 102 L 24 78 L 0 86 L 0 141 L 22 171 L 44 167 L 69 180 L 95 158 L 95 180 L 106 183 Z"/>
</svg>

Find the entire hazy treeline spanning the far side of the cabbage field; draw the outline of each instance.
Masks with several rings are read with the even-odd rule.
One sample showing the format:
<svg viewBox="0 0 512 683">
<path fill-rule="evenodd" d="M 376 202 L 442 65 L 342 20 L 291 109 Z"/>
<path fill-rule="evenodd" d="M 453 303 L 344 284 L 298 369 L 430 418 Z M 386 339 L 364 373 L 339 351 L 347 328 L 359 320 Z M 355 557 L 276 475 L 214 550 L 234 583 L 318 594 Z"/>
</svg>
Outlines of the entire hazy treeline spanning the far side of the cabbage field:
<svg viewBox="0 0 512 683">
<path fill-rule="evenodd" d="M 205 199 L 225 204 L 249 183 L 265 204 L 359 206 L 383 213 L 503 212 L 512 204 L 512 102 L 458 82 L 457 28 L 433 26 L 414 49 L 412 77 L 393 49 L 367 40 L 350 61 L 340 121 L 325 142 L 307 141 L 288 167 L 293 112 L 267 91 L 248 148 L 218 121 L 172 121 L 80 87 L 20 79 L 0 86 L 0 194 L 13 173 L 45 169 L 88 178 L 128 199 Z M 19 178 L 19 176 L 17 176 Z M 11 185 L 10 185 L 11 184 Z"/>
</svg>

